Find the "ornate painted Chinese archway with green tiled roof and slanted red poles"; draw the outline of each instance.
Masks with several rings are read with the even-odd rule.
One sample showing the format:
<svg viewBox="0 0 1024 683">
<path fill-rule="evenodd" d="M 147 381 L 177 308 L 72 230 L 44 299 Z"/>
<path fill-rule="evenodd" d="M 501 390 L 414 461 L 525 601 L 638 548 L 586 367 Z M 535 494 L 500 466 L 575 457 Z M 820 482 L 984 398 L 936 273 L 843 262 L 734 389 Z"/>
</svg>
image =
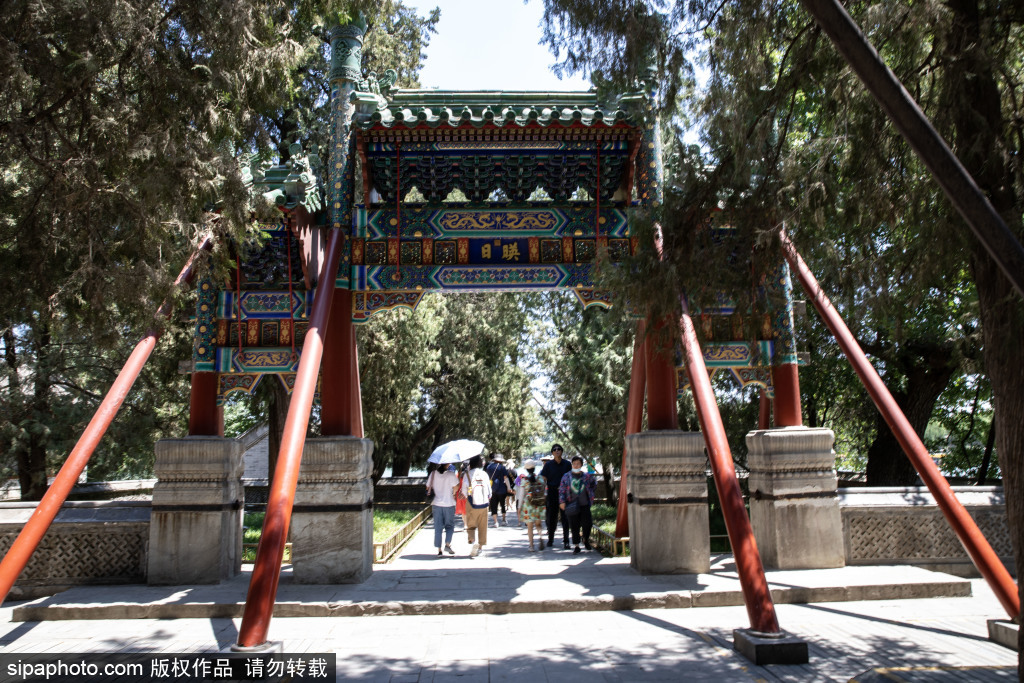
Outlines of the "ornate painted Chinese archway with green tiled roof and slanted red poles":
<svg viewBox="0 0 1024 683">
<path fill-rule="evenodd" d="M 337 503 L 331 492 L 317 488 L 342 467 L 331 449 L 356 454 L 352 462 L 369 459 L 372 450 L 362 438 L 355 328 L 381 311 L 415 309 L 431 292 L 560 290 L 573 292 L 584 306 L 611 306 L 609 293 L 595 288 L 598 263 L 635 254 L 639 245 L 630 232 L 631 211 L 656 207 L 662 200 L 662 153 L 650 93 L 602 99 L 595 92 L 395 89 L 393 72 L 380 78 L 361 74 L 365 29 L 354 23 L 332 32 L 329 164 L 325 166 L 317 150 L 304 152 L 293 144 L 286 163 L 251 168 L 253 191 L 270 199 L 281 218 L 260 225 L 258 247 L 231 246 L 234 267 L 229 282 L 207 279 L 198 284 L 196 337 L 187 368 L 189 436 L 221 435 L 220 407 L 225 399 L 236 392 L 251 393 L 260 382 L 280 381 L 292 396 L 239 632 L 237 647 L 243 650 L 267 646 L 293 513 L 312 515 L 303 518 L 303 532 L 316 532 L 322 524 L 315 515 L 362 514 L 372 505 L 365 490 L 355 503 Z M 827 300 L 784 234 L 783 247 L 788 264 L 825 314 Z M 625 523 L 630 499 L 634 565 L 650 562 L 641 568 L 663 572 L 707 570 L 700 543 L 666 540 L 671 557 L 665 565 L 658 563 L 668 557 L 665 549 L 648 549 L 655 533 L 665 536 L 666 524 L 675 528 L 685 522 L 707 537 L 705 472 L 710 461 L 751 620 L 753 635 L 743 637 L 744 647 L 752 651 L 756 647 L 749 644 L 751 638 L 772 640 L 782 634 L 759 544 L 774 566 L 786 566 L 787 553 L 799 556 L 805 567 L 843 561 L 836 551 L 838 547 L 842 555 L 830 432 L 801 427 L 790 265 L 779 264 L 763 283 L 765 300 L 775 303 L 756 319 L 744 319 L 744 311 L 728 302 L 691 313 L 681 297 L 679 319 L 640 321 L 627 415 L 623 479 L 629 469 L 633 483 L 629 497 L 624 484 L 620 504 Z M 186 269 L 179 280 L 187 280 L 188 273 Z M 678 355 L 675 349 L 659 347 L 657 335 L 644 334 L 665 325 L 679 327 Z M 697 343 L 698 328 L 702 345 Z M 842 331 L 834 329 L 840 337 Z M 144 362 L 153 341 L 147 335 L 140 342 L 140 359 L 133 362 Z M 844 346 L 851 358 L 859 351 L 855 346 Z M 715 372 L 731 373 L 741 385 L 760 387 L 774 402 L 776 429 L 767 429 L 763 418 L 761 430 L 748 436 L 752 490 L 757 481 L 762 492 L 756 501 L 752 496 L 750 516 L 711 390 L 709 375 Z M 869 371 L 863 373 L 866 378 Z M 104 417 L 97 413 L 94 421 L 109 424 L 133 379 L 125 384 L 119 378 L 111 405 L 104 400 L 101 408 Z M 870 381 L 864 379 L 865 385 Z M 687 389 L 697 405 L 699 435 L 677 431 L 676 399 Z M 305 438 L 317 398 L 321 433 L 336 439 L 327 444 L 310 444 Z M 885 402 L 884 396 L 877 400 Z M 641 432 L 645 404 L 647 431 Z M 95 429 L 90 424 L 51 486 L 53 499 L 44 498 L 0 565 L 4 595 L 59 509 L 60 492 L 70 490 L 101 437 L 105 425 L 99 423 Z M 197 456 L 200 452 L 189 451 L 193 445 L 181 447 L 181 462 L 188 464 L 184 469 L 202 469 L 204 459 L 215 460 Z M 909 454 L 915 446 L 905 447 Z M 204 462 L 197 464 L 200 460 Z M 915 461 L 915 466 L 932 486 L 941 476 L 928 470 L 934 464 L 925 460 Z M 300 463 L 303 471 L 312 467 L 317 474 L 312 493 L 296 503 Z M 186 481 L 187 473 L 179 478 Z M 942 484 L 934 482 L 936 489 Z M 154 515 L 158 507 L 160 514 L 204 505 L 227 510 L 233 495 L 228 494 L 204 503 L 179 495 L 158 506 L 155 489 Z M 947 518 L 972 559 L 1015 615 L 1010 594 L 1016 595 L 1016 587 L 1009 575 L 999 574 L 998 559 L 990 548 L 985 550 L 987 543 L 976 526 L 971 528 L 970 517 L 957 516 L 955 499 L 943 505 L 952 510 Z M 784 544 L 775 539 L 802 525 L 825 532 L 796 533 L 796 540 L 791 536 Z M 230 532 L 223 531 L 225 538 Z M 172 542 L 168 547 L 177 549 L 170 557 L 184 562 L 184 546 Z M 313 574 L 308 583 L 329 583 L 321 581 L 323 575 Z M 739 641 L 737 632 L 737 647 Z M 802 651 L 806 660 L 806 644 Z M 792 647 L 786 656 L 793 656 Z"/>
</svg>

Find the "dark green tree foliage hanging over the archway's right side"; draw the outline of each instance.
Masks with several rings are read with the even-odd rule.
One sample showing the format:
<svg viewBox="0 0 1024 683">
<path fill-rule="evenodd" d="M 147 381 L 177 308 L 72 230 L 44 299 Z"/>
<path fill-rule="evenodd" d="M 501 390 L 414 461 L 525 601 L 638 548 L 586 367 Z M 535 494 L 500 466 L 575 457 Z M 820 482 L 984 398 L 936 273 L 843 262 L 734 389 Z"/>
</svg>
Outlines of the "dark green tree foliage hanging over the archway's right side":
<svg viewBox="0 0 1024 683">
<path fill-rule="evenodd" d="M 1024 16 L 1008 3 L 979 5 L 979 14 L 968 16 L 967 5 L 849 9 L 1020 233 L 1024 172 L 1014 160 L 1024 140 Z M 604 87 L 629 89 L 651 63 L 644 44 L 659 67 L 665 206 L 632 227 L 644 243 L 659 225 L 666 258 L 642 253 L 628 278 L 609 278 L 609 287 L 658 313 L 675 310 L 682 292 L 697 306 L 725 292 L 741 308 L 757 307 L 756 287 L 780 259 L 774 233 L 785 225 L 919 433 L 936 404 L 937 414 L 949 416 L 944 422 L 985 421 L 984 401 L 971 403 L 978 414 L 966 412 L 944 389 L 974 381 L 982 348 L 990 354 L 1019 347 L 1006 340 L 1018 334 L 1020 306 L 988 314 L 983 346 L 985 314 L 974 282 L 992 266 L 980 264 L 979 250 L 966 258 L 975 243 L 962 219 L 800 3 L 545 6 L 545 37 L 564 69 L 599 72 Z M 695 70 L 707 74 L 699 89 L 692 87 Z M 699 147 L 682 139 L 690 125 L 699 126 Z M 707 229 L 718 209 L 716 222 L 732 228 L 729 258 Z M 812 355 L 802 371 L 808 422 L 836 431 L 841 464 L 863 466 L 869 453 L 879 462 L 902 462 L 817 321 L 802 334 Z M 1018 376 L 1019 360 L 1004 353 L 1000 364 L 989 374 Z M 974 443 L 968 451 L 977 466 Z M 945 462 L 955 471 L 971 468 Z M 887 467 L 877 483 L 905 482 L 905 471 Z"/>
</svg>

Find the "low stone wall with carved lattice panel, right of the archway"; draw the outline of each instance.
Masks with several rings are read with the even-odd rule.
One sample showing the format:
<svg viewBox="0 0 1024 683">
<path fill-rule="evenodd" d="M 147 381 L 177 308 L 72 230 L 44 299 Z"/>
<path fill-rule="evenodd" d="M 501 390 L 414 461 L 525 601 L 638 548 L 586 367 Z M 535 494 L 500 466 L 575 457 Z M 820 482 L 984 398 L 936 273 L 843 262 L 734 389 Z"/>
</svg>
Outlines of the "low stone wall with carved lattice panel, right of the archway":
<svg viewBox="0 0 1024 683">
<path fill-rule="evenodd" d="M 956 535 L 924 486 L 840 488 L 847 564 L 913 564 L 978 575 Z M 1001 486 L 953 486 L 995 554 L 1013 571 Z"/>
</svg>

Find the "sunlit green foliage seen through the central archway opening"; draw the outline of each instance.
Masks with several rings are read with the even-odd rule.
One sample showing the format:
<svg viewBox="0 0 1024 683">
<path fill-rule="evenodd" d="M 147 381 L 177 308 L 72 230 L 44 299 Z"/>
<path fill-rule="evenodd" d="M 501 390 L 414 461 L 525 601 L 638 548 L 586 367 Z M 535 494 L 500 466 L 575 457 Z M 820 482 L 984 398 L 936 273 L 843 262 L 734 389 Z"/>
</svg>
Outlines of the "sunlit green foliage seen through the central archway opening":
<svg viewBox="0 0 1024 683">
<path fill-rule="evenodd" d="M 366 433 L 375 477 L 423 466 L 457 438 L 517 456 L 540 425 L 522 369 L 532 344 L 532 299 L 430 295 L 416 312 L 371 318 L 358 335 Z"/>
</svg>

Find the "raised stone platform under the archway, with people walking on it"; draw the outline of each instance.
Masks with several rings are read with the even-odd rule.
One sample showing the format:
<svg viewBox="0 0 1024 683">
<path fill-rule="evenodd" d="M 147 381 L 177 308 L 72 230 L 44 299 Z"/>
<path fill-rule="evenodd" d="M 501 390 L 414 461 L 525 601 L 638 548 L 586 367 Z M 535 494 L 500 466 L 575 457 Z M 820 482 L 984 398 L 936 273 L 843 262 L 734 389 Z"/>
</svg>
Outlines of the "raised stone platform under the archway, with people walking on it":
<svg viewBox="0 0 1024 683">
<path fill-rule="evenodd" d="M 457 555 L 436 555 L 428 524 L 367 582 L 309 586 L 286 567 L 275 616 L 503 614 L 608 609 L 671 609 L 743 604 L 730 555 L 713 558 L 707 574 L 642 575 L 629 558 L 579 555 L 561 549 L 529 552 L 525 531 L 492 528 L 488 545 L 469 556 L 464 533 Z M 769 570 L 776 604 L 892 600 L 970 595 L 965 579 L 910 566 Z M 110 618 L 233 618 L 242 615 L 251 566 L 211 586 L 92 586 L 24 603 L 16 621 Z"/>
</svg>

